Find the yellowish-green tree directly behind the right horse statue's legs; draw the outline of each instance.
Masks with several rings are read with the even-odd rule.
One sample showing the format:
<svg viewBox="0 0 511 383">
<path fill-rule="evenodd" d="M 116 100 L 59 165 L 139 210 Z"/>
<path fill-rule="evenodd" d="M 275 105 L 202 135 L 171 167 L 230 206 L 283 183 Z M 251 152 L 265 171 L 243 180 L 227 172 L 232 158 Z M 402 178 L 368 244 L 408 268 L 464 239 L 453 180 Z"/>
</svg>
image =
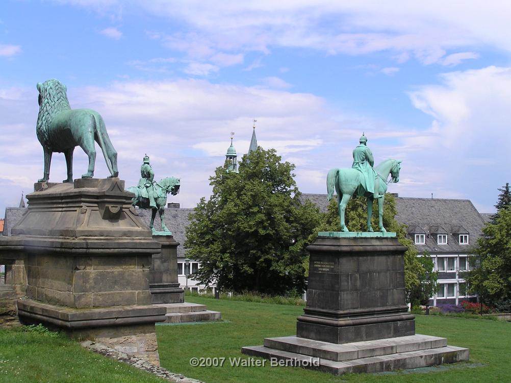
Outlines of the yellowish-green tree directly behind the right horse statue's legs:
<svg viewBox="0 0 511 383">
<path fill-rule="evenodd" d="M 389 232 L 396 232 L 399 242 L 408 247 L 405 252 L 405 288 L 406 296 L 410 297 L 412 289 L 420 285 L 419 275 L 425 273 L 424 266 L 417 256 L 417 248 L 413 241 L 406 236 L 406 226 L 400 224 L 394 217 L 398 210 L 396 208 L 396 197 L 392 194 L 385 194 L 383 204 L 383 226 Z M 346 206 L 344 215 L 346 226 L 350 231 L 367 230 L 367 202 L 365 198 L 353 196 Z M 373 227 L 378 227 L 378 205 L 373 207 L 373 216 L 371 217 Z M 339 211 L 337 208 L 337 197 L 332 198 L 326 213 L 322 214 L 321 223 L 318 225 L 314 234 L 309 238 L 313 241 L 318 231 L 339 231 Z"/>
</svg>

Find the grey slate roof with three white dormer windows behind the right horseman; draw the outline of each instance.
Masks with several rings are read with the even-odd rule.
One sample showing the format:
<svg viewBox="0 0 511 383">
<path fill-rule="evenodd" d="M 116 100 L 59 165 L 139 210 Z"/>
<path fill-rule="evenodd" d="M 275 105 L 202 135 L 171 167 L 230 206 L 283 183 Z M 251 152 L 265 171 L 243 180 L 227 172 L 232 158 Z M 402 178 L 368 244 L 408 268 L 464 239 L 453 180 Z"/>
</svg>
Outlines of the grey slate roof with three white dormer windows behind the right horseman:
<svg viewBox="0 0 511 383">
<path fill-rule="evenodd" d="M 327 211 L 327 194 L 302 194 L 301 201 L 314 202 Z M 426 243 L 416 245 L 420 253 L 466 254 L 481 235 L 485 219 L 469 199 L 396 197 L 396 219 L 407 226 L 410 238 L 426 234 Z M 447 244 L 437 244 L 436 234 L 448 234 Z M 469 234 L 469 245 L 459 244 L 459 234 Z"/>
</svg>

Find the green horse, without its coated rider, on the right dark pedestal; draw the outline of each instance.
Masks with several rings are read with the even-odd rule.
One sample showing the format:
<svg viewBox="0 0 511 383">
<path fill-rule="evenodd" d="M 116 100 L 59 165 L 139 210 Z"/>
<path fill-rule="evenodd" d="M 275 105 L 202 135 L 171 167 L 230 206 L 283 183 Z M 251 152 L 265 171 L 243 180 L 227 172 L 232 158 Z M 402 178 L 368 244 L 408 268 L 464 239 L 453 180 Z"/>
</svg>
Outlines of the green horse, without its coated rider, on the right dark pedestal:
<svg viewBox="0 0 511 383">
<path fill-rule="evenodd" d="M 387 178 L 391 174 L 392 178 L 389 182 L 399 182 L 399 171 L 401 169 L 401 161 L 388 159 L 376 166 L 374 169 L 380 177 L 379 194 L 383 197 L 378 198 L 379 212 L 379 228 L 380 231 L 386 232 L 383 227 L 383 202 L 387 191 Z M 350 201 L 353 194 L 357 192 L 359 196 L 367 198 L 367 231 L 374 231 L 371 227 L 371 216 L 373 215 L 373 193 L 367 193 L 363 187 L 364 176 L 357 169 L 330 169 L 327 176 L 327 199 L 330 201 L 333 197 L 334 189 L 337 193 L 337 203 L 339 208 L 339 219 L 341 221 L 341 230 L 348 232 L 348 228 L 344 223 L 344 212 L 346 205 Z"/>
</svg>

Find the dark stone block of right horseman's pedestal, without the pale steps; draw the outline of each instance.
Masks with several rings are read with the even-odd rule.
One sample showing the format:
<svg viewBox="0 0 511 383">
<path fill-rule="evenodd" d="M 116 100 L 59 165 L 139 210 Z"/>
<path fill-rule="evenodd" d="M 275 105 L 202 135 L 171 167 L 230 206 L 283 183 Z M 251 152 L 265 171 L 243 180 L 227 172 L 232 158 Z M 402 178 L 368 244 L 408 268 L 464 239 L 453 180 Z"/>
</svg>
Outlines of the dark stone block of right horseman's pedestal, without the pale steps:
<svg viewBox="0 0 511 383">
<path fill-rule="evenodd" d="M 415 334 L 397 238 L 318 237 L 310 252 L 307 307 L 296 335 L 330 343 Z"/>
</svg>

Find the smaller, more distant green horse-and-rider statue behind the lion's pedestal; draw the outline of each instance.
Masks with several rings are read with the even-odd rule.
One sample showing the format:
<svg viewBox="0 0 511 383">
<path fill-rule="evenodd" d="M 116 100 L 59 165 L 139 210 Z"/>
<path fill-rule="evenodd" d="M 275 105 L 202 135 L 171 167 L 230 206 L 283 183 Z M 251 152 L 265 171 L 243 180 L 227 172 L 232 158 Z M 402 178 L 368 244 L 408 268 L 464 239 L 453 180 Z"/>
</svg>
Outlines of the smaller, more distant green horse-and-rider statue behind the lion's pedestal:
<svg viewBox="0 0 511 383">
<path fill-rule="evenodd" d="M 171 193 L 176 195 L 179 193 L 180 181 L 176 177 L 166 177 L 160 179 L 158 182 L 154 181 L 154 171 L 149 163 L 149 156 L 146 154 L 144 162 L 140 168 L 141 178 L 138 181 L 138 186 L 132 186 L 127 190 L 135 196 L 132 199 L 132 205 L 138 206 L 141 209 L 151 209 L 151 223 L 149 227 L 154 233 L 154 217 L 156 212 L 159 212 L 161 229 L 164 232 L 170 232 L 164 221 L 165 206 L 167 205 L 167 195 Z"/>
</svg>

